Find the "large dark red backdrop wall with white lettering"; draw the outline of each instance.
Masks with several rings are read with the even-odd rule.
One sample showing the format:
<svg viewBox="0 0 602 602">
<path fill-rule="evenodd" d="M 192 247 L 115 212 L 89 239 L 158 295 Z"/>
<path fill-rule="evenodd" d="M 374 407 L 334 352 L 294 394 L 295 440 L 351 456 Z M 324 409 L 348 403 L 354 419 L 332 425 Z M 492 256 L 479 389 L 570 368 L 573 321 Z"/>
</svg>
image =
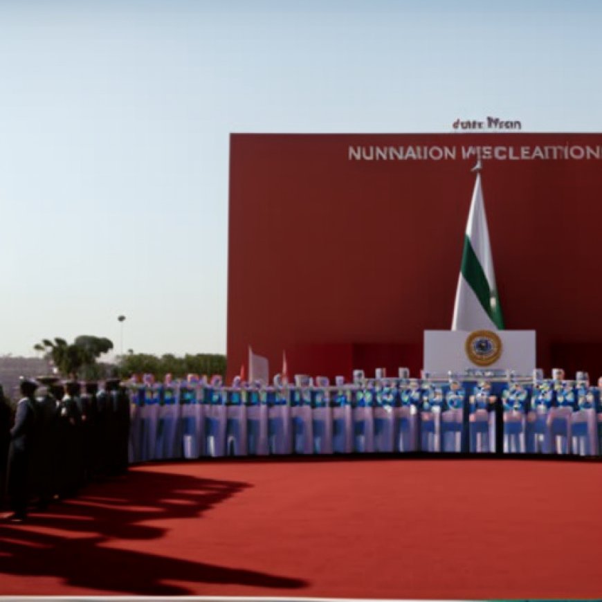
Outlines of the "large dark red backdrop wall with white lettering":
<svg viewBox="0 0 602 602">
<path fill-rule="evenodd" d="M 602 134 L 233 134 L 228 370 L 417 372 L 449 329 L 477 147 L 506 327 L 602 374 Z"/>
</svg>

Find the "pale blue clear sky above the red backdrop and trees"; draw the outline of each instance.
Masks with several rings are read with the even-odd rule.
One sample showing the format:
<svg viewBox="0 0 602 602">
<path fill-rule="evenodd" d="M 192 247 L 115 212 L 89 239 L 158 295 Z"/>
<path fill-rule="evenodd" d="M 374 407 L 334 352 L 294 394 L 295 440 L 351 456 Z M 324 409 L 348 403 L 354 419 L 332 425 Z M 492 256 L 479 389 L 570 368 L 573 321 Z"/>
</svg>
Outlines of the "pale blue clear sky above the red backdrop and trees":
<svg viewBox="0 0 602 602">
<path fill-rule="evenodd" d="M 602 131 L 602 3 L 0 0 L 0 354 L 225 352 L 230 132 Z"/>
</svg>

